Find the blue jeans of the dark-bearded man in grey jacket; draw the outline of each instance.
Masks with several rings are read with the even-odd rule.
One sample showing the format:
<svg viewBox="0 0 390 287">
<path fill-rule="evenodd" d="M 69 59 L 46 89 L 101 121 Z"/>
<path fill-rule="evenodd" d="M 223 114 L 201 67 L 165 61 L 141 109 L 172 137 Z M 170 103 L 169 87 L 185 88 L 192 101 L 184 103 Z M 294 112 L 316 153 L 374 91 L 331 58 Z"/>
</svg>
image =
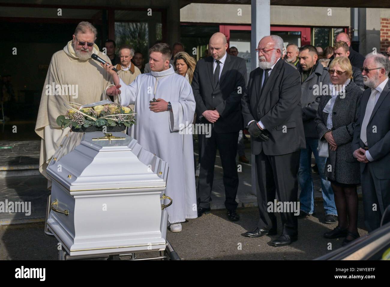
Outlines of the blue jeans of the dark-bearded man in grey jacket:
<svg viewBox="0 0 390 287">
<path fill-rule="evenodd" d="M 325 214 L 337 215 L 335 196 L 330 182 L 324 176 L 326 157 L 318 156 L 318 139 L 306 137 L 306 149 L 301 150 L 301 159 L 298 170 L 298 182 L 301 187 L 300 210 L 308 214 L 314 212 L 314 186 L 312 179 L 312 152 L 317 163 L 319 175 L 321 177 L 322 197 L 324 199 Z"/>
</svg>

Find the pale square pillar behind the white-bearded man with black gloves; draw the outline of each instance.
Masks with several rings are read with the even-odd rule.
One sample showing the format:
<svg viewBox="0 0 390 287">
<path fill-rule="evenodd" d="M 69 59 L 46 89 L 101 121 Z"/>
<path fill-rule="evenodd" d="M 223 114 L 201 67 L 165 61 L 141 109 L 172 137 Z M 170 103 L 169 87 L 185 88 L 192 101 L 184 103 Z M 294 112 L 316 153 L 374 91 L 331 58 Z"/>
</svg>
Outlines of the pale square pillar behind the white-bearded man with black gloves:
<svg viewBox="0 0 390 287">
<path fill-rule="evenodd" d="M 256 53 L 257 45 L 262 37 L 271 34 L 270 22 L 270 5 L 269 0 L 251 0 L 251 64 L 252 70 L 259 66 L 258 54 Z M 247 124 L 247 123 L 245 123 Z M 252 193 L 256 195 L 258 188 L 257 175 L 255 166 L 255 156 L 251 155 L 252 162 Z"/>
</svg>

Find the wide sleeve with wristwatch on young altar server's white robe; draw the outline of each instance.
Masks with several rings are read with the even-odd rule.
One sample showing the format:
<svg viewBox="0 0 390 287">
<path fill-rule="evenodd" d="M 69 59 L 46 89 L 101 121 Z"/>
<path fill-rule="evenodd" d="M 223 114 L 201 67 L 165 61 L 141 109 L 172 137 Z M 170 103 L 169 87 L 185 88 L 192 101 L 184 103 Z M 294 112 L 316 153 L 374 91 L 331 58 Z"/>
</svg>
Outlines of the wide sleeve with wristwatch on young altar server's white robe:
<svg viewBox="0 0 390 287">
<path fill-rule="evenodd" d="M 195 98 L 190 83 L 183 77 L 180 87 L 179 100 L 171 102 L 172 111 L 169 112 L 169 128 L 171 132 L 183 130 L 192 124 L 195 114 Z"/>
</svg>

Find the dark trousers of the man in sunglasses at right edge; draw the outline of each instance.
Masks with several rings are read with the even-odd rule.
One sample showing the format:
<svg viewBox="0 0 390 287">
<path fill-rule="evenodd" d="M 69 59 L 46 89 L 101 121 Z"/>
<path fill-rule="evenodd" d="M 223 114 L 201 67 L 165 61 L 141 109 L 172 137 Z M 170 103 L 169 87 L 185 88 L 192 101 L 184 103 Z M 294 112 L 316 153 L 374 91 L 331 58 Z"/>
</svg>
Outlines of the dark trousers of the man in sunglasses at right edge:
<svg viewBox="0 0 390 287">
<path fill-rule="evenodd" d="M 383 212 L 390 205 L 390 179 L 377 178 L 370 163 L 366 164 L 361 179 L 364 224 L 371 232 L 379 228 Z"/>
</svg>

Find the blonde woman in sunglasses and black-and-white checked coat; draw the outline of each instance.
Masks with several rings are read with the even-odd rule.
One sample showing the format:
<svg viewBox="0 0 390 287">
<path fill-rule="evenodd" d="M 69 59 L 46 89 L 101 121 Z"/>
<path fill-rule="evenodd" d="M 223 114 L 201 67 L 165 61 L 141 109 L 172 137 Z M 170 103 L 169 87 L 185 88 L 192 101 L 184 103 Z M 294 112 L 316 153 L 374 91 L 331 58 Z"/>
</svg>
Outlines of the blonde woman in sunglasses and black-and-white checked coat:
<svg viewBox="0 0 390 287">
<path fill-rule="evenodd" d="M 328 93 L 321 96 L 315 122 L 319 139 L 326 146 L 321 150 L 328 152 L 324 175 L 332 184 L 339 225 L 324 237 L 346 237 L 342 242 L 345 245 L 359 237 L 356 187 L 360 184 L 360 166 L 353 157 L 351 141 L 363 89 L 353 82 L 347 57 L 333 59 L 328 71 L 331 84 Z"/>
</svg>

